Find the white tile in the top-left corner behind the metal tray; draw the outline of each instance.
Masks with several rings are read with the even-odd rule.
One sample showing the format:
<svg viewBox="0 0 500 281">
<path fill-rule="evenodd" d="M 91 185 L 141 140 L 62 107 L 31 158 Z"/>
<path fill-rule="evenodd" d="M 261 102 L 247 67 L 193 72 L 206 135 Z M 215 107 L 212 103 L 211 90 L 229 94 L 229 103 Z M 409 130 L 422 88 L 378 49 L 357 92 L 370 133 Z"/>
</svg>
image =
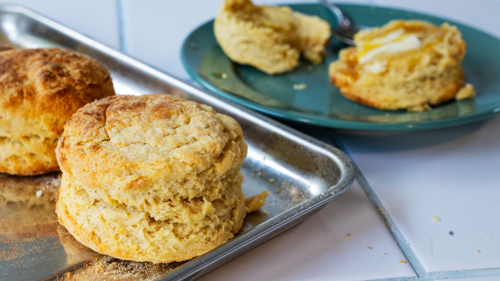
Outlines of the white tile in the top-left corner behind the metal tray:
<svg viewBox="0 0 500 281">
<path fill-rule="evenodd" d="M 118 17 L 114 0 L 9 0 L 112 48 L 119 48 Z"/>
</svg>

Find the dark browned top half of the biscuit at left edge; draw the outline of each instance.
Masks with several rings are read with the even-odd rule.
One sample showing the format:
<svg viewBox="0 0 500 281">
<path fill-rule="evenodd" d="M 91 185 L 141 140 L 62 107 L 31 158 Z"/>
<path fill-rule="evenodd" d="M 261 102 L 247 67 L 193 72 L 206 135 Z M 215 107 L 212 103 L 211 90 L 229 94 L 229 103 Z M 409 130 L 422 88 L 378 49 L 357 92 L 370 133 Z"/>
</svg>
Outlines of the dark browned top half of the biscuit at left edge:
<svg viewBox="0 0 500 281">
<path fill-rule="evenodd" d="M 0 91 L 0 127 L 22 117 L 26 130 L 45 137 L 60 135 L 79 107 L 114 94 L 109 72 L 99 62 L 61 48 L 1 51 Z"/>
</svg>

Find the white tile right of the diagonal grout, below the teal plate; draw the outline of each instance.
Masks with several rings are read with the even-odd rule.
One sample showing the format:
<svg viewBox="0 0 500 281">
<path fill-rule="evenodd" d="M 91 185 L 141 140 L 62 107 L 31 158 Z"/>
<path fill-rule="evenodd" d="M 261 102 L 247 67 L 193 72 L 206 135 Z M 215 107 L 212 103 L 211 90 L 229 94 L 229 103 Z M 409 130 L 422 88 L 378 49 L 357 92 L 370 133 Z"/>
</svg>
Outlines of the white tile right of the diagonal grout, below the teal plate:
<svg viewBox="0 0 500 281">
<path fill-rule="evenodd" d="M 342 136 L 427 271 L 500 267 L 499 128 Z"/>
</svg>

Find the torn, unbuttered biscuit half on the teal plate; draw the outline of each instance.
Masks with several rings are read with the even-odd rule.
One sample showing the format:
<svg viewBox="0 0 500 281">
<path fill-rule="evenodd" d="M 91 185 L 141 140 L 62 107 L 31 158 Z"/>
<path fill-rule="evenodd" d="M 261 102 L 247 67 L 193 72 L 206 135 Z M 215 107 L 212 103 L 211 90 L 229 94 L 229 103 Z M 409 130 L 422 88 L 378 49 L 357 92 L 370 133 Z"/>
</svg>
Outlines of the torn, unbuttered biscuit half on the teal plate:
<svg viewBox="0 0 500 281">
<path fill-rule="evenodd" d="M 287 6 L 223 0 L 214 33 L 231 60 L 275 74 L 297 66 L 300 55 L 321 62 L 331 31 L 325 20 Z"/>
</svg>

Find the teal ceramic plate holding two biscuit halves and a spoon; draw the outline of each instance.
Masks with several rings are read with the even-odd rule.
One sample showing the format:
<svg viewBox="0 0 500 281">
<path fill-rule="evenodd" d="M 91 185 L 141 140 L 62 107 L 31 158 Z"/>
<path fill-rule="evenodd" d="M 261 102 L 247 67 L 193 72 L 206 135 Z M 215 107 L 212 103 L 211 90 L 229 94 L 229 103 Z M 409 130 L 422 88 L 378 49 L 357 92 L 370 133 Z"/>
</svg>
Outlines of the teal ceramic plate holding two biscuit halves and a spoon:
<svg viewBox="0 0 500 281">
<path fill-rule="evenodd" d="M 336 19 L 318 4 L 292 4 L 294 10 L 318 15 L 335 26 Z M 434 24 L 444 19 L 390 8 L 339 5 L 363 25 L 379 26 L 391 19 L 423 19 Z M 325 62 L 301 61 L 291 72 L 268 75 L 232 62 L 213 35 L 213 21 L 192 31 L 182 45 L 184 67 L 207 89 L 262 113 L 292 121 L 356 130 L 430 129 L 469 123 L 500 111 L 500 40 L 466 25 L 458 27 L 467 44 L 463 67 L 473 83 L 473 99 L 451 101 L 424 112 L 385 111 L 343 97 L 328 81 L 329 62 L 346 45 L 330 39 Z M 294 89 L 305 84 L 306 89 Z"/>
</svg>

